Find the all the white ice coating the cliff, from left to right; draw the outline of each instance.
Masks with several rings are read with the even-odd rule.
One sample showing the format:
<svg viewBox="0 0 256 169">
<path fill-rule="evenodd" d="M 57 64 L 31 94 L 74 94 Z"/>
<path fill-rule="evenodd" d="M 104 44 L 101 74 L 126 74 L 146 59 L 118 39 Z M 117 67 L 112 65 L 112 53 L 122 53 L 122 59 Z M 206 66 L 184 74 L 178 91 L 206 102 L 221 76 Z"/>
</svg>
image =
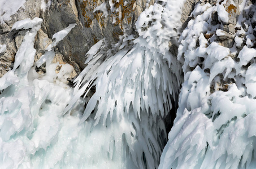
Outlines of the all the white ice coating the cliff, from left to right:
<svg viewBox="0 0 256 169">
<path fill-rule="evenodd" d="M 0 22 L 24 2 L 0 0 Z M 73 67 L 52 60 L 76 24 L 58 30 L 34 63 L 42 19 L 16 22 L 12 30 L 27 32 L 0 78 L 0 168 L 256 168 L 256 6 L 199 1 L 183 30 L 185 2 L 149 6 L 135 24 L 138 37 L 98 41 L 73 87 Z M 227 6 L 241 11 L 231 47 L 220 41 L 235 11 Z M 105 3 L 97 10 L 108 15 Z"/>
</svg>

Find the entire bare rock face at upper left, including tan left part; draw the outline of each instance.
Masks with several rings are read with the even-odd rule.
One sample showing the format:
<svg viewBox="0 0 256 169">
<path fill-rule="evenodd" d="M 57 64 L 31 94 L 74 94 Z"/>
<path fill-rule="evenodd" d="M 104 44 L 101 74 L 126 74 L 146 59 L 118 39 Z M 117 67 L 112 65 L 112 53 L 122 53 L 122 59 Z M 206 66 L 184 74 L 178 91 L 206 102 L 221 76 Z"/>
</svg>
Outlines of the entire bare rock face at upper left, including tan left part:
<svg viewBox="0 0 256 169">
<path fill-rule="evenodd" d="M 12 0 L 14 1 L 14 0 Z M 12 25 L 21 19 L 40 17 L 44 21 L 36 37 L 37 60 L 51 43 L 54 33 L 76 23 L 68 37 L 55 47 L 55 61 L 71 64 L 77 73 L 85 68 L 85 54 L 100 39 L 106 38 L 109 44 L 119 41 L 119 35 L 136 34 L 134 23 L 153 0 L 139 1 L 89 1 L 89 0 L 28 0 L 19 1 L 17 13 L 8 12 L 7 3 L 0 11 L 0 45 L 6 51 L 0 54 L 0 76 L 2 77 L 14 63 L 15 54 L 27 30 L 11 30 Z M 16 14 L 15 14 L 16 13 Z M 7 15 L 8 14 L 8 15 Z"/>
</svg>

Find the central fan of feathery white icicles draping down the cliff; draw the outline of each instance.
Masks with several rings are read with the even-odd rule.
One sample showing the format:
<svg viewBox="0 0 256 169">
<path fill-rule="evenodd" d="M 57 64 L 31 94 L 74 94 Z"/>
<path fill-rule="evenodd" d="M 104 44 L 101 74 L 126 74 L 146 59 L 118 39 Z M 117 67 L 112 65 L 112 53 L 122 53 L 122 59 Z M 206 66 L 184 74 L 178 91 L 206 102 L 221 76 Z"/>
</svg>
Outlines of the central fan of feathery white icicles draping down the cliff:
<svg viewBox="0 0 256 169">
<path fill-rule="evenodd" d="M 119 161 L 127 168 L 131 164 L 132 168 L 158 167 L 167 141 L 163 118 L 172 108 L 171 98 L 177 99 L 182 81 L 180 63 L 169 44 L 179 36 L 183 3 L 155 3 L 136 23 L 138 38 L 123 35 L 114 48 L 102 39 L 87 54 L 87 66 L 75 79 L 75 96 L 66 111 L 95 86 L 81 123 L 93 121 L 92 132 L 95 128 L 107 131 L 104 139 L 112 144 L 101 150 L 106 161 Z M 98 141 L 91 144 L 96 146 Z"/>
</svg>

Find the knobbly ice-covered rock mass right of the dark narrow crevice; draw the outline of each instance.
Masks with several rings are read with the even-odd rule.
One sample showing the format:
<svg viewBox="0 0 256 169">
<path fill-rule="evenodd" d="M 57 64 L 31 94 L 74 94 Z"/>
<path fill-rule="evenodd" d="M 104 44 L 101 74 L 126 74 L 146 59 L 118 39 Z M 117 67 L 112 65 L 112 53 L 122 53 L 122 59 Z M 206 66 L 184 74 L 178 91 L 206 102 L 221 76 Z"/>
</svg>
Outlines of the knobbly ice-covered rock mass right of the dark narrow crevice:
<svg viewBox="0 0 256 169">
<path fill-rule="evenodd" d="M 256 6 L 241 3 L 236 25 L 241 30 L 227 48 L 215 42 L 228 19 L 226 2 L 199 2 L 179 39 L 185 81 L 159 168 L 256 167 Z M 215 11 L 220 24 L 214 26 Z M 224 85 L 227 90 L 218 90 Z"/>
</svg>

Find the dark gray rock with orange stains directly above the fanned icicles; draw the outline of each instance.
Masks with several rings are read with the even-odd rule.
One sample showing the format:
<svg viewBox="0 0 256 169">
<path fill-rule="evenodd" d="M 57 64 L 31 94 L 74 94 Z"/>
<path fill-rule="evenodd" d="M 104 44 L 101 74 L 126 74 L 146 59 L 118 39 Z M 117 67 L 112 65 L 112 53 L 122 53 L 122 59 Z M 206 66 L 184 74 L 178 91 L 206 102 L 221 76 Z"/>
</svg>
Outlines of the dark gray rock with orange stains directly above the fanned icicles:
<svg viewBox="0 0 256 169">
<path fill-rule="evenodd" d="M 109 1 L 65 0 L 51 3 L 49 10 L 42 15 L 45 18 L 42 29 L 49 37 L 68 24 L 77 24 L 58 44 L 59 52 L 67 63 L 76 63 L 81 70 L 85 68 L 86 52 L 100 39 L 106 38 L 114 44 L 119 41 L 120 35 L 134 33 L 134 22 L 145 10 L 146 0 L 133 0 L 127 4 L 124 1 L 113 2 L 113 7 Z M 105 3 L 107 14 L 102 10 L 94 11 L 102 3 Z"/>
</svg>

